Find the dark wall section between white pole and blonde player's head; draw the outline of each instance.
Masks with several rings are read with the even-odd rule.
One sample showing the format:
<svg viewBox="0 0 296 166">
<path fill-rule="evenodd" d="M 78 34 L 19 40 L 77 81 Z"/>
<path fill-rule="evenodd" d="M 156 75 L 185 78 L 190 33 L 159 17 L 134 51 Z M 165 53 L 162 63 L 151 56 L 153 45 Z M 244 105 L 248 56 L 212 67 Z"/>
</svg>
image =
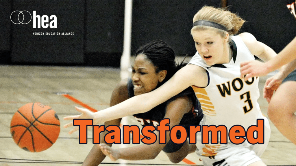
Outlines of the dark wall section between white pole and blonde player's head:
<svg viewBox="0 0 296 166">
<path fill-rule="evenodd" d="M 192 18 L 205 4 L 221 7 L 217 0 L 133 1 L 132 53 L 151 40 L 163 40 L 178 56 L 194 55 Z"/>
</svg>

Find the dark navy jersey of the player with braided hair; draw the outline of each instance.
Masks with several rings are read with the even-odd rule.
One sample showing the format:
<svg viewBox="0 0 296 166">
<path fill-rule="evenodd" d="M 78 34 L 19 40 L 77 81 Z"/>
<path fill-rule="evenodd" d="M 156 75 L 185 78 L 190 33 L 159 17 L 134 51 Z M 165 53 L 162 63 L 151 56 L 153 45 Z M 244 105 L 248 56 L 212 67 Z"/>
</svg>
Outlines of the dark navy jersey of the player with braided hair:
<svg viewBox="0 0 296 166">
<path fill-rule="evenodd" d="M 131 98 L 134 96 L 133 84 L 131 78 L 128 80 L 128 96 Z M 180 125 L 184 126 L 187 131 L 189 131 L 189 126 L 197 126 L 200 124 L 201 119 L 203 118 L 202 109 L 200 102 L 197 100 L 197 97 L 191 87 L 185 89 L 178 95 L 170 98 L 168 101 L 163 102 L 160 105 L 157 105 L 155 108 L 152 108 L 148 112 L 138 113 L 133 115 L 136 120 L 142 125 L 159 125 L 159 122 L 165 117 L 166 106 L 168 103 L 176 99 L 176 97 L 188 96 L 193 103 L 192 111 L 184 114 L 183 118 L 180 121 Z"/>
</svg>

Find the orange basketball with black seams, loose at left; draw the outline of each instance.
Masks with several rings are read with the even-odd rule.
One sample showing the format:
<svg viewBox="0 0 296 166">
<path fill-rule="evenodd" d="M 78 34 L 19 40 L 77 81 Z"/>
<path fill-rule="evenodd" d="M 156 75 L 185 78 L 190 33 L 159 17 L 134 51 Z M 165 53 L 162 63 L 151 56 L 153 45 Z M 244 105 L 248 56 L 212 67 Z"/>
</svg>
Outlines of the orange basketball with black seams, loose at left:
<svg viewBox="0 0 296 166">
<path fill-rule="evenodd" d="M 60 122 L 55 111 L 39 102 L 20 107 L 10 122 L 12 139 L 29 152 L 41 152 L 51 147 L 59 131 Z"/>
</svg>

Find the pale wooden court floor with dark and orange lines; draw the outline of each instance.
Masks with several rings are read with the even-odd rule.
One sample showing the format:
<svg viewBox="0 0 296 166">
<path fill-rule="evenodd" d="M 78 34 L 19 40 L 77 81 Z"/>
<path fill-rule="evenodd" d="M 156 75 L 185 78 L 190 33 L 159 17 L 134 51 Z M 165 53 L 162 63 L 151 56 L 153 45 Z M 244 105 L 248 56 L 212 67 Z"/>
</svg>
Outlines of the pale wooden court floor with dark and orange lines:
<svg viewBox="0 0 296 166">
<path fill-rule="evenodd" d="M 260 81 L 260 90 L 265 79 Z M 78 133 L 68 134 L 69 129 L 61 127 L 59 138 L 49 149 L 32 153 L 20 149 L 10 134 L 12 115 L 22 105 L 42 102 L 51 106 L 58 114 L 61 126 L 68 123 L 64 116 L 76 115 L 79 106 L 61 94 L 68 94 L 96 110 L 107 108 L 111 92 L 120 81 L 117 68 L 61 67 L 61 66 L 8 66 L 0 65 L 0 165 L 1 166 L 75 166 L 82 161 L 93 146 L 92 131 L 88 131 L 88 144 L 78 143 Z M 268 103 L 261 96 L 261 110 L 267 116 Z M 137 124 L 133 117 L 125 118 L 123 124 Z M 296 165 L 296 146 L 289 142 L 271 124 L 271 139 L 261 157 L 267 165 Z M 115 145 L 115 148 L 132 145 Z M 190 154 L 177 165 L 202 165 L 196 154 Z M 112 162 L 106 158 L 101 165 L 174 165 L 161 152 L 154 160 Z"/>
</svg>

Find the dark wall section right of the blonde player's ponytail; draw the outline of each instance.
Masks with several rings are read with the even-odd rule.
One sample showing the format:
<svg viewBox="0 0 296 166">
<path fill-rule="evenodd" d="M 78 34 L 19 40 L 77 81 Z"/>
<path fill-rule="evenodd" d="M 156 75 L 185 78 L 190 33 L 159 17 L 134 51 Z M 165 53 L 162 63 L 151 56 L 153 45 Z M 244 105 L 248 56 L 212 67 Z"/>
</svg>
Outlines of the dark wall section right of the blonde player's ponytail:
<svg viewBox="0 0 296 166">
<path fill-rule="evenodd" d="M 246 20 L 241 32 L 252 33 L 277 53 L 296 36 L 296 20 L 286 1 L 227 0 L 229 9 Z"/>
</svg>

